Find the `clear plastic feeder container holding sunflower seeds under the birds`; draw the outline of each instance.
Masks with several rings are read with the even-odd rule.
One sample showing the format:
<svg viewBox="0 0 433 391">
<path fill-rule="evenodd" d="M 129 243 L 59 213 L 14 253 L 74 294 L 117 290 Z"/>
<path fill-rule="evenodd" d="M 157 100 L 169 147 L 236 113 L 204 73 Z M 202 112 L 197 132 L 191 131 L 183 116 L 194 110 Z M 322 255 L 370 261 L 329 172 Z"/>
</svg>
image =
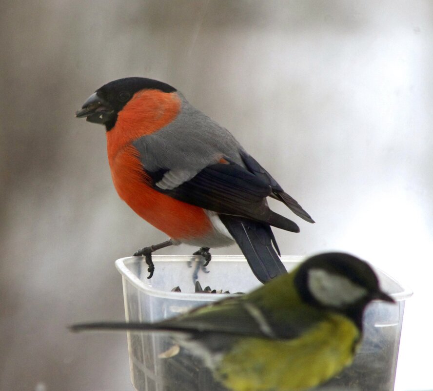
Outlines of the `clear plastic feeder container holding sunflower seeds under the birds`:
<svg viewBox="0 0 433 391">
<path fill-rule="evenodd" d="M 282 257 L 291 270 L 303 257 Z M 228 297 L 224 293 L 194 293 L 195 282 L 202 288 L 248 292 L 261 284 L 242 256 L 212 257 L 203 270 L 198 257 L 154 256 L 155 273 L 147 279 L 143 258 L 122 258 L 116 267 L 122 275 L 125 314 L 128 322 L 155 322 L 176 316 L 211 301 Z M 364 337 L 354 364 L 317 388 L 327 391 L 393 391 L 398 346 L 405 300 L 412 291 L 375 269 L 381 287 L 397 304 L 373 302 L 364 316 Z M 171 290 L 179 286 L 181 292 Z M 128 332 L 131 380 L 137 391 L 222 391 L 212 373 L 187 350 L 170 357 L 160 354 L 174 346 L 164 333 Z"/>
</svg>

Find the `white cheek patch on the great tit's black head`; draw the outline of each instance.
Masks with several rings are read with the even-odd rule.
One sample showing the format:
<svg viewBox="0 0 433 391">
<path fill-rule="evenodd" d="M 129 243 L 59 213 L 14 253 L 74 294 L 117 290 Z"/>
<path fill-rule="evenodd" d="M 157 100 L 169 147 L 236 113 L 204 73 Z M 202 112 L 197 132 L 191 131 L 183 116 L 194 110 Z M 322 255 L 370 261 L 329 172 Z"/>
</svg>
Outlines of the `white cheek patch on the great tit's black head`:
<svg viewBox="0 0 433 391">
<path fill-rule="evenodd" d="M 309 270 L 307 284 L 314 298 L 325 306 L 344 307 L 368 293 L 348 278 L 323 269 Z"/>
</svg>

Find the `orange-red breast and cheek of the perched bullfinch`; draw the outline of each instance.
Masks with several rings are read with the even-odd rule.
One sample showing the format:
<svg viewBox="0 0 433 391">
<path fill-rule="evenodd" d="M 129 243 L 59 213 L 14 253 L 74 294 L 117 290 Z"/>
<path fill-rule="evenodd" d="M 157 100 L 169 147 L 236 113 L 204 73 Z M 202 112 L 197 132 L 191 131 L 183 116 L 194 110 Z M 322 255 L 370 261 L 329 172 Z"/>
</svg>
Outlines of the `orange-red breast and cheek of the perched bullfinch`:
<svg viewBox="0 0 433 391">
<path fill-rule="evenodd" d="M 118 195 L 144 220 L 175 240 L 205 236 L 212 229 L 204 210 L 177 201 L 147 185 L 138 150 L 131 144 L 172 122 L 180 111 L 176 93 L 144 90 L 118 113 L 107 135 L 108 162 Z M 147 183 L 146 183 L 147 182 Z"/>
</svg>

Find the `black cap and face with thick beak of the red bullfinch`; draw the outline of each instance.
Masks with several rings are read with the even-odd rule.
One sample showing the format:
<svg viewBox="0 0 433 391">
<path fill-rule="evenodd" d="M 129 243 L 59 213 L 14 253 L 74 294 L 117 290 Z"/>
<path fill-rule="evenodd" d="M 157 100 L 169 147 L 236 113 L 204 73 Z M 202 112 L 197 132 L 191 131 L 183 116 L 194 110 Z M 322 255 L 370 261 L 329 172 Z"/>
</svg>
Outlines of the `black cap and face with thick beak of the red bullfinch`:
<svg viewBox="0 0 433 391">
<path fill-rule="evenodd" d="M 109 82 L 92 94 L 75 113 L 77 118 L 86 117 L 87 121 L 102 123 L 110 130 L 116 123 L 118 112 L 138 91 L 144 89 L 175 92 L 176 88 L 157 80 L 146 78 L 125 78 Z"/>
</svg>

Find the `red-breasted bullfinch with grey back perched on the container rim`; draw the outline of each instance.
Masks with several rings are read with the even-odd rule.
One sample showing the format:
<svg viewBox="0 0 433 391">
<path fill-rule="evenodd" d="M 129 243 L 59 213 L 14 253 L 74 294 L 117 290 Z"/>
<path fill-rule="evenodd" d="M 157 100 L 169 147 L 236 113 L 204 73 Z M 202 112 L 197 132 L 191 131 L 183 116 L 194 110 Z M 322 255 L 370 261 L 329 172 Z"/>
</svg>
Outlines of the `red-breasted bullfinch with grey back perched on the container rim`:
<svg viewBox="0 0 433 391">
<path fill-rule="evenodd" d="M 152 276 L 151 253 L 186 243 L 210 261 L 211 247 L 234 241 L 258 280 L 286 270 L 271 226 L 299 227 L 272 211 L 267 197 L 302 219 L 310 215 L 225 128 L 192 106 L 176 88 L 125 78 L 100 87 L 77 111 L 105 125 L 108 162 L 118 195 L 170 240 L 138 250 Z"/>
</svg>

